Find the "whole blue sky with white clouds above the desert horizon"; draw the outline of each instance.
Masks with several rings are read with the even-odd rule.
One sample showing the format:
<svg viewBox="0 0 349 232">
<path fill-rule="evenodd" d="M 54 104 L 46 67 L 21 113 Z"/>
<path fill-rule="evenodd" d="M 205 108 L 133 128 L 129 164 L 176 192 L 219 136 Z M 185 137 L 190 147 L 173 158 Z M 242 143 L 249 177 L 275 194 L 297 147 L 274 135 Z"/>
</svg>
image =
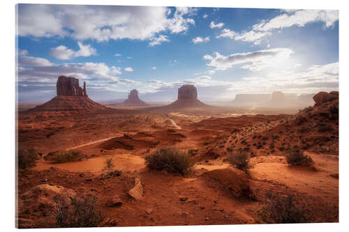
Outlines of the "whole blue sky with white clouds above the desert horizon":
<svg viewBox="0 0 349 232">
<path fill-rule="evenodd" d="M 337 10 L 17 5 L 19 102 L 56 95 L 60 75 L 87 82 L 93 100 L 172 101 L 339 88 Z"/>
</svg>

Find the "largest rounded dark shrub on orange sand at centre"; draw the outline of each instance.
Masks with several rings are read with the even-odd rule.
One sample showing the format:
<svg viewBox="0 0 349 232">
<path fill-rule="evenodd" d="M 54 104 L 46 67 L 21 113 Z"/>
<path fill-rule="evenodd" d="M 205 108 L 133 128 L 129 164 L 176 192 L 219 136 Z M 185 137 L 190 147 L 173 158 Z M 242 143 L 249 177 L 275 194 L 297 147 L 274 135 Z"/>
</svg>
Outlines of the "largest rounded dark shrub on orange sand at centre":
<svg viewBox="0 0 349 232">
<path fill-rule="evenodd" d="M 150 169 L 166 170 L 182 175 L 188 173 L 194 163 L 191 157 L 177 148 L 159 148 L 145 157 L 145 163 Z"/>
</svg>

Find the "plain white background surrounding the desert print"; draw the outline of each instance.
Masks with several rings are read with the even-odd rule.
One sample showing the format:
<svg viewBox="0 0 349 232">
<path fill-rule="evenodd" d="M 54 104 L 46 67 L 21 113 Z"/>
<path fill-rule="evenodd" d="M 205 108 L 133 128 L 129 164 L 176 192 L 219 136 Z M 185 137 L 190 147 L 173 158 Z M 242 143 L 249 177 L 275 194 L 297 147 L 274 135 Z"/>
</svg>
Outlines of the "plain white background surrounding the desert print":
<svg viewBox="0 0 349 232">
<path fill-rule="evenodd" d="M 295 8 L 295 9 L 332 9 L 339 10 L 339 93 L 340 93 L 340 126 L 339 126 L 339 189 L 340 189 L 340 223 L 325 224 L 279 224 L 279 225 L 232 225 L 232 226 L 156 226 L 124 227 L 98 229 L 64 229 L 64 231 L 348 231 L 348 17 L 347 1 L 320 0 L 133 0 L 133 1 L 1 1 L 1 36 L 0 36 L 0 230 L 15 229 L 15 4 L 16 3 L 61 3 L 61 4 L 94 4 L 94 5 L 134 5 L 134 6 L 198 6 L 198 7 L 235 7 L 235 8 Z M 46 231 L 47 229 L 40 229 Z M 63 229 L 58 229 L 59 231 Z M 33 230 L 31 230 L 33 231 Z M 38 231 L 38 229 L 34 229 Z M 52 229 L 51 229 L 52 231 Z M 54 229 L 57 231 L 57 229 Z"/>
</svg>

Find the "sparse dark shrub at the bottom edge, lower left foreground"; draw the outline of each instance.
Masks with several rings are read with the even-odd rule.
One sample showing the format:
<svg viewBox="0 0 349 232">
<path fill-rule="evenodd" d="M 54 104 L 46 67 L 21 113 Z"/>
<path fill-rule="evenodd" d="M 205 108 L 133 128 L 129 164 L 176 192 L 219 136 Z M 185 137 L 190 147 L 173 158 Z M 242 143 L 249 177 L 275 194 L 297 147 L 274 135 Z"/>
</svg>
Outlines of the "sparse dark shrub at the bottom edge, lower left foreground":
<svg viewBox="0 0 349 232">
<path fill-rule="evenodd" d="M 65 206 L 58 196 L 56 202 L 58 227 L 96 227 L 105 219 L 96 207 L 96 196 L 92 194 L 71 199 L 69 206 Z"/>
</svg>

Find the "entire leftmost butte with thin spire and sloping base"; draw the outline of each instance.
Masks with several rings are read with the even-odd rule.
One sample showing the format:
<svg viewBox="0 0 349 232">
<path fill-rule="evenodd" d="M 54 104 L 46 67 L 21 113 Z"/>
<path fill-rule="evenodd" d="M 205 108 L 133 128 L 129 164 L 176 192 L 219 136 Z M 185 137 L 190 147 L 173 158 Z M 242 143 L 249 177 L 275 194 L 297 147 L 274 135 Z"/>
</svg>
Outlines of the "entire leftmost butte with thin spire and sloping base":
<svg viewBox="0 0 349 232">
<path fill-rule="evenodd" d="M 84 88 L 79 86 L 79 79 L 60 76 L 57 79 L 57 96 L 43 105 L 34 108 L 36 111 L 100 111 L 107 107 L 94 102 Z"/>
</svg>

